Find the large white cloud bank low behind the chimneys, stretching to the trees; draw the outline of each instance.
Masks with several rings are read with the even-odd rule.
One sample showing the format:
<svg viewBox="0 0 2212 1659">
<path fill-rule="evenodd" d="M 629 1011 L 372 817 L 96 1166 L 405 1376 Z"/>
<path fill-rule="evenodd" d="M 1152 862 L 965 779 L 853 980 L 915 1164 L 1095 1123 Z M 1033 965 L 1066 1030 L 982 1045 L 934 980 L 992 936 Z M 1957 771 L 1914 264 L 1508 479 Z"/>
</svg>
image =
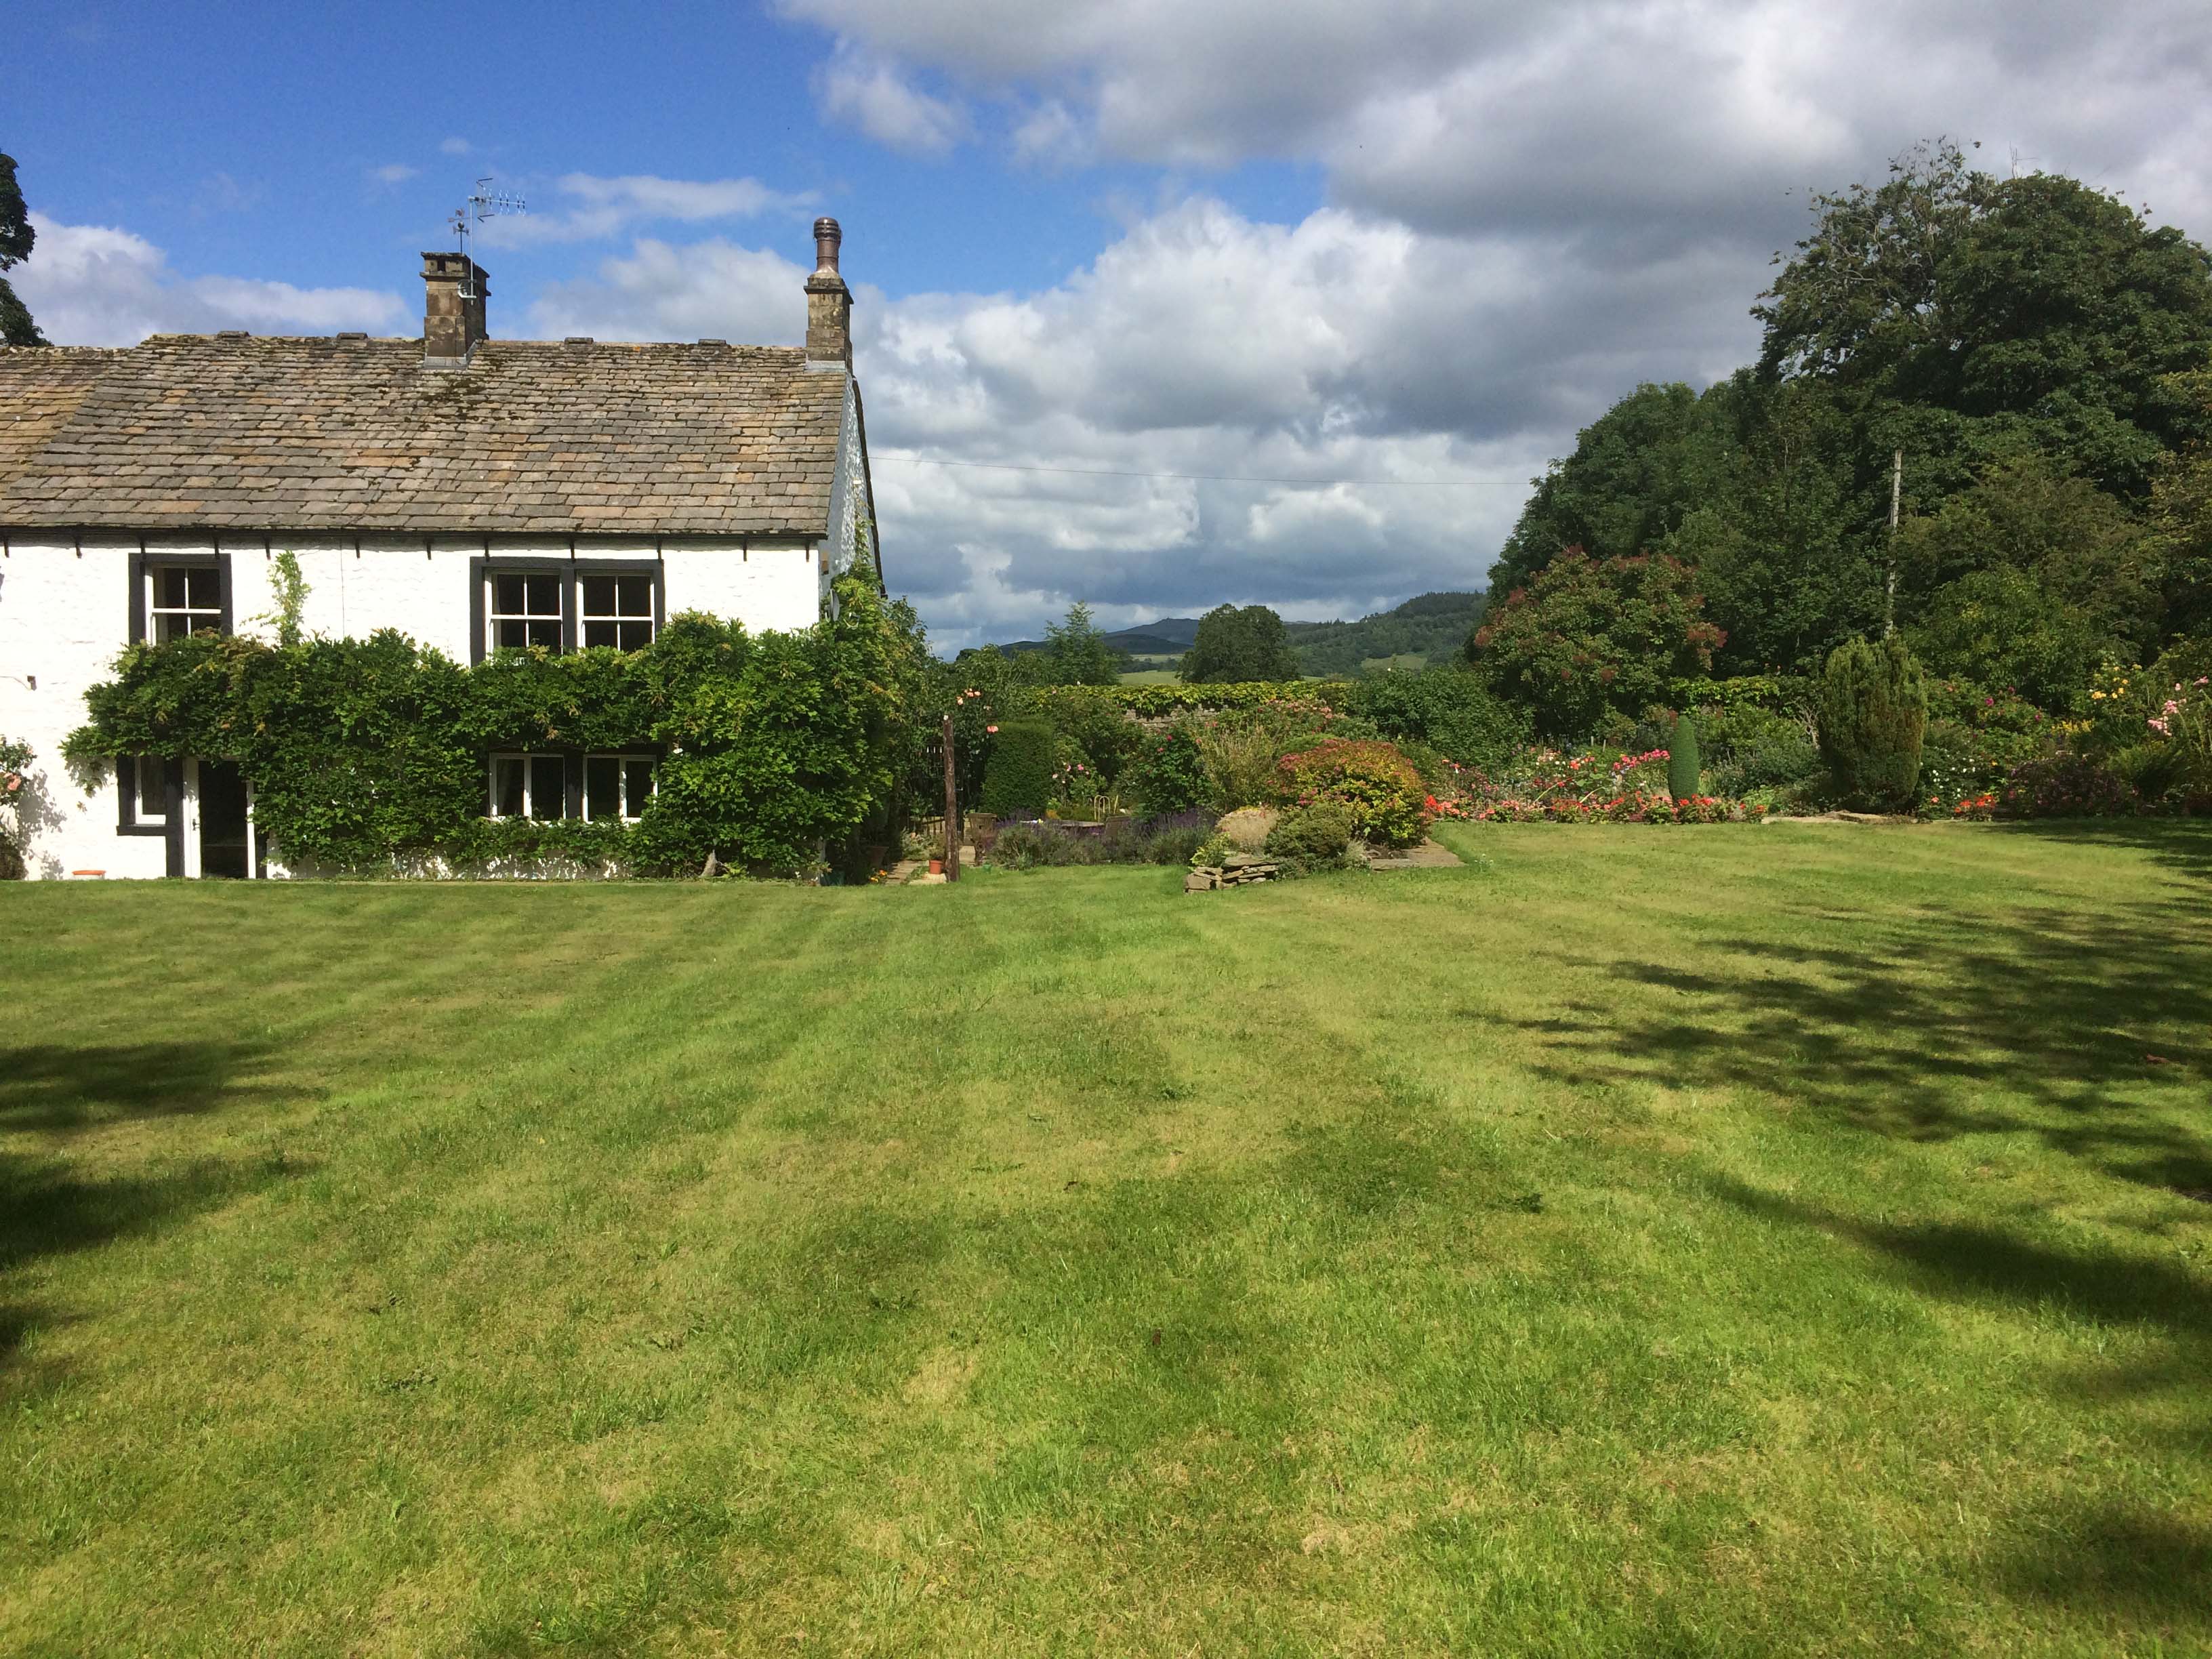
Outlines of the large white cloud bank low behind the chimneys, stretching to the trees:
<svg viewBox="0 0 2212 1659">
<path fill-rule="evenodd" d="M 533 325 L 790 345 L 805 274 L 719 239 L 641 241 L 549 290 Z M 1270 226 L 1210 199 L 1135 221 L 1037 294 L 863 288 L 894 586 L 947 646 L 1035 633 L 1071 599 L 1113 622 L 1219 599 L 1358 615 L 1480 586 L 1526 480 L 1593 400 L 1717 374 L 1752 338 L 1699 261 L 1657 268 L 1648 299 L 1599 325 L 1573 312 L 1588 290 L 1564 299 L 1553 314 L 1553 272 L 1513 243 L 1336 208 Z M 1006 469 L 925 465 L 945 460 Z"/>
</svg>

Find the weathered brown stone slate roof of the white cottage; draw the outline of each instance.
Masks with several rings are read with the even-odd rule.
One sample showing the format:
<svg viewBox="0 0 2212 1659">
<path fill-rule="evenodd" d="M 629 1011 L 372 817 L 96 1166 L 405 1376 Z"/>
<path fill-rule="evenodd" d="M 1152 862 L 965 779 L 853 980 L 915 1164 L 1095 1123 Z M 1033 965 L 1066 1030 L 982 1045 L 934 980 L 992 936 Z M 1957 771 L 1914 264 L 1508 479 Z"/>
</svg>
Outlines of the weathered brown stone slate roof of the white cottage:
<svg viewBox="0 0 2212 1659">
<path fill-rule="evenodd" d="M 768 345 L 0 349 L 0 526 L 830 531 L 845 376 Z"/>
</svg>

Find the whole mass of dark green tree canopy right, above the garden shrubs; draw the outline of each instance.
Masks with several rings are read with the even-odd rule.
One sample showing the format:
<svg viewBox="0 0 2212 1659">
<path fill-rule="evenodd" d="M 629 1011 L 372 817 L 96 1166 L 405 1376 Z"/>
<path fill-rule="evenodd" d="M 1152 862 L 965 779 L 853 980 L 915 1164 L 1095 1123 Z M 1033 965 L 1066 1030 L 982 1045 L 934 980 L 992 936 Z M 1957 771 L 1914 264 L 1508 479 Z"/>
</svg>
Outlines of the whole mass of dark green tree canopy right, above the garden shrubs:
<svg viewBox="0 0 2212 1659">
<path fill-rule="evenodd" d="M 1677 560 L 1728 675 L 1818 672 L 1893 622 L 1978 672 L 2042 661 L 2048 686 L 2084 650 L 2132 661 L 2212 619 L 2201 246 L 2075 179 L 1995 179 L 1927 144 L 1818 197 L 1776 263 L 1759 361 L 1703 392 L 1641 385 L 1584 429 L 1493 591 L 1571 546 Z M 2020 650 L 1997 648 L 2031 588 L 2064 626 L 2037 599 Z"/>
</svg>

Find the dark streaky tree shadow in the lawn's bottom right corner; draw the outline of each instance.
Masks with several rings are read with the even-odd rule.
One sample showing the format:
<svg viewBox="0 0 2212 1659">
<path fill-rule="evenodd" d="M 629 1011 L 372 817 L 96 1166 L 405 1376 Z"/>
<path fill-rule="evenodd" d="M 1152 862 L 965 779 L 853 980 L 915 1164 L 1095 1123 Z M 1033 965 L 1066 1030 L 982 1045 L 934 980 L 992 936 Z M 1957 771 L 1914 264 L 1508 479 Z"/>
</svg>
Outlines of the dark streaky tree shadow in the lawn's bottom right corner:
<svg viewBox="0 0 2212 1659">
<path fill-rule="evenodd" d="M 2062 1380 L 2062 1391 L 2141 1402 L 2172 1396 L 2183 1420 L 2161 1413 L 2177 1455 L 2208 1451 L 2203 1376 L 2212 1371 L 2212 1285 L 2172 1261 L 2119 1250 L 2031 1241 L 1953 1221 L 1898 1223 L 1834 1214 L 1728 1177 L 1705 1181 L 1725 1203 L 1765 1221 L 1812 1228 L 1874 1252 L 1902 1283 L 1944 1301 L 2015 1310 L 2059 1307 L 2099 1325 L 2132 1325 L 2166 1338 L 2161 1358 L 2121 1376 Z M 2095 1491 L 2046 1504 L 2033 1535 L 1995 1564 L 2013 1597 L 2064 1606 L 2099 1624 L 2172 1635 L 2212 1630 L 2212 1528 L 2168 1509 L 2115 1502 Z"/>
</svg>

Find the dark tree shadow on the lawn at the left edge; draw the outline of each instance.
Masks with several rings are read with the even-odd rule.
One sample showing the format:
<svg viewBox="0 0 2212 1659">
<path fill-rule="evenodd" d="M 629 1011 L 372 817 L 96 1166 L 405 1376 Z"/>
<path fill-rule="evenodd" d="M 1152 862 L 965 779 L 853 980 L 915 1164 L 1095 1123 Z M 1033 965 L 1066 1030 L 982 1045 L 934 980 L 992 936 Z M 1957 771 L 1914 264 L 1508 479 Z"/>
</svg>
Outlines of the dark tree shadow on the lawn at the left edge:
<svg viewBox="0 0 2212 1659">
<path fill-rule="evenodd" d="M 283 1172 L 270 1161 L 186 1159 L 88 1175 L 75 1152 L 106 1126 L 268 1097 L 263 1048 L 243 1042 L 0 1048 L 0 1274 L 199 1214 Z M 0 1301 L 0 1367 L 33 1325 L 64 1318 Z"/>
</svg>

